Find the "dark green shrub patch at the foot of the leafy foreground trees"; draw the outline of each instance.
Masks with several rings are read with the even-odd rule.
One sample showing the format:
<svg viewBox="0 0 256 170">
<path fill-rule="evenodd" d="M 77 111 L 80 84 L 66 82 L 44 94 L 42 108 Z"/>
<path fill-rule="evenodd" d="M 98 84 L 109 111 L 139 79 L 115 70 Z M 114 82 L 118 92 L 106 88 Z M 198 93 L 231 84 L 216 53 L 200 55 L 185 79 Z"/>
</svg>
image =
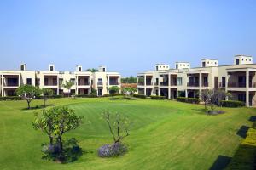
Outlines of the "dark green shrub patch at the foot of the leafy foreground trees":
<svg viewBox="0 0 256 170">
<path fill-rule="evenodd" d="M 42 144 L 44 147 L 49 147 L 46 144 Z M 42 159 L 50 161 L 59 161 L 61 163 L 71 163 L 77 161 L 79 157 L 83 156 L 85 153 L 82 148 L 79 147 L 77 139 L 65 139 L 63 142 L 63 153 L 58 152 L 58 147 L 53 147 L 49 151 L 49 148 L 44 150 L 44 156 Z M 60 156 L 61 155 L 61 156 Z"/>
</svg>

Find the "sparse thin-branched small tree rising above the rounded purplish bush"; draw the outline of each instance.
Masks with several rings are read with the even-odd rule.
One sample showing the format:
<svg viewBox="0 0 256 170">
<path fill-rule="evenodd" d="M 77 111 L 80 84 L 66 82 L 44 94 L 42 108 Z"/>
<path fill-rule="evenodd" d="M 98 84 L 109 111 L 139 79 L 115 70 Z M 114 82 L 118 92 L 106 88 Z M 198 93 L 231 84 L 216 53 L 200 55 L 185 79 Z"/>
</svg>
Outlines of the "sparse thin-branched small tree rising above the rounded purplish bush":
<svg viewBox="0 0 256 170">
<path fill-rule="evenodd" d="M 131 123 L 127 117 L 120 116 L 118 113 L 113 116 L 109 112 L 103 113 L 102 117 L 108 123 L 108 128 L 113 136 L 114 143 L 119 143 L 122 139 L 129 136 Z"/>
</svg>

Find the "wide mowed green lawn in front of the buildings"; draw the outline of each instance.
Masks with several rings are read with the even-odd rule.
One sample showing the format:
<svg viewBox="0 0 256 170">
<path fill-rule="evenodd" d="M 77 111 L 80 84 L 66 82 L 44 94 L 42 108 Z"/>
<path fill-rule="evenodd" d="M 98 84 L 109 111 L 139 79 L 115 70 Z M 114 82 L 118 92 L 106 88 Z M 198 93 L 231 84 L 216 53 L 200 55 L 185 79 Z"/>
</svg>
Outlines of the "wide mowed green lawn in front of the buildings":
<svg viewBox="0 0 256 170">
<path fill-rule="evenodd" d="M 78 161 L 58 164 L 42 159 L 45 134 L 32 128 L 33 111 L 25 101 L 0 102 L 0 169 L 209 169 L 218 156 L 232 157 L 241 143 L 237 131 L 251 126 L 255 109 L 224 109 L 223 115 L 207 116 L 202 105 L 150 99 L 51 99 L 51 105 L 67 105 L 84 116 L 84 124 L 65 135 L 75 137 L 84 150 Z M 32 106 L 42 101 L 32 101 Z M 112 137 L 104 111 L 119 112 L 132 122 L 124 142 L 125 156 L 99 158 L 97 149 Z M 90 122 L 90 123 L 88 123 Z"/>
</svg>

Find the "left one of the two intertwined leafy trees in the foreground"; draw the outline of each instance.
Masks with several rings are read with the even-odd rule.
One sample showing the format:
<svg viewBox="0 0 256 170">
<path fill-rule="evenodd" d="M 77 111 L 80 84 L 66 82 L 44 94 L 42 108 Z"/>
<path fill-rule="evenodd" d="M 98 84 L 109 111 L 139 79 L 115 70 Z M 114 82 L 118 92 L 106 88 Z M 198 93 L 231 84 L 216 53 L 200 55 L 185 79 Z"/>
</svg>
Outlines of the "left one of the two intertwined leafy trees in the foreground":
<svg viewBox="0 0 256 170">
<path fill-rule="evenodd" d="M 36 112 L 35 120 L 32 122 L 34 129 L 41 130 L 43 133 L 47 134 L 50 145 L 54 145 L 54 120 L 55 112 L 53 109 L 49 109 L 42 110 L 41 114 Z"/>
</svg>

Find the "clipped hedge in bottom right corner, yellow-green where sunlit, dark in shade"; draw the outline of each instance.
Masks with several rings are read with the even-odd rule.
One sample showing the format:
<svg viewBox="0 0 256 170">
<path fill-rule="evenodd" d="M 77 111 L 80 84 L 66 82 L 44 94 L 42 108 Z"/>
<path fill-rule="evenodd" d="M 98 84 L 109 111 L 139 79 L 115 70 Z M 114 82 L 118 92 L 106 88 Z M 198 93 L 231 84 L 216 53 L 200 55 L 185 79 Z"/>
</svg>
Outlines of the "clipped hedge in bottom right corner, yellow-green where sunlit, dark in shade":
<svg viewBox="0 0 256 170">
<path fill-rule="evenodd" d="M 236 150 L 227 169 L 255 169 L 256 167 L 256 129 L 249 128 L 246 139 L 243 139 Z"/>
</svg>

